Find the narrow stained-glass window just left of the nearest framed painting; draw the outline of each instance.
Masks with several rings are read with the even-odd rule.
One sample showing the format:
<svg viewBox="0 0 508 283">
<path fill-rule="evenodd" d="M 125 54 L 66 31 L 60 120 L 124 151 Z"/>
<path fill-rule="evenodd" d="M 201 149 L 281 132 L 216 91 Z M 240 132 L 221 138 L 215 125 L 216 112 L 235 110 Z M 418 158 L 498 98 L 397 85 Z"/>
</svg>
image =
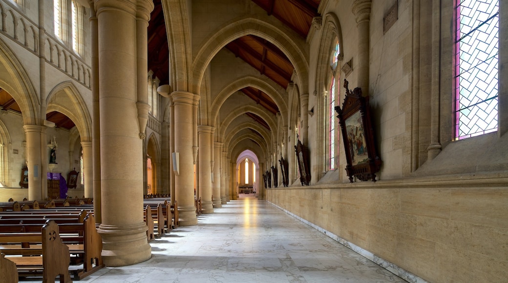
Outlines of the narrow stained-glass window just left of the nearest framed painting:
<svg viewBox="0 0 508 283">
<path fill-rule="evenodd" d="M 331 67 L 332 67 L 332 75 L 331 75 L 331 83 L 330 83 L 330 92 L 329 92 L 329 103 L 328 103 L 328 156 L 329 156 L 329 169 L 333 170 L 335 169 L 335 157 L 336 155 L 336 149 L 337 149 L 337 118 L 335 115 L 335 101 L 338 98 L 338 87 L 337 87 L 337 81 L 339 81 L 339 72 L 336 72 L 336 68 L 338 65 L 338 55 L 339 55 L 339 41 L 336 40 L 334 44 L 334 48 L 332 51 L 332 58 L 331 58 Z"/>
</svg>

